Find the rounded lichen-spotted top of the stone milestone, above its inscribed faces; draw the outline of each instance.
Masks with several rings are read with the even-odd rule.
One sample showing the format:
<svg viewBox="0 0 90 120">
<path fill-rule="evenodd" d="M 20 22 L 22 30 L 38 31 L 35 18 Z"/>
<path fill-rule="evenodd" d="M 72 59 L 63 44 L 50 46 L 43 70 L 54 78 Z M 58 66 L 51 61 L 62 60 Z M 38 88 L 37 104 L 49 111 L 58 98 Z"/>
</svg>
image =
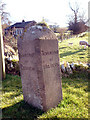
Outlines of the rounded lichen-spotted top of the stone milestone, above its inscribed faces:
<svg viewBox="0 0 90 120">
<path fill-rule="evenodd" d="M 50 40 L 56 40 L 57 37 L 54 34 L 52 30 L 45 26 L 40 25 L 34 25 L 31 27 L 28 27 L 27 29 L 24 29 L 23 35 L 21 36 L 23 40 L 35 40 L 35 39 L 50 39 Z"/>
</svg>

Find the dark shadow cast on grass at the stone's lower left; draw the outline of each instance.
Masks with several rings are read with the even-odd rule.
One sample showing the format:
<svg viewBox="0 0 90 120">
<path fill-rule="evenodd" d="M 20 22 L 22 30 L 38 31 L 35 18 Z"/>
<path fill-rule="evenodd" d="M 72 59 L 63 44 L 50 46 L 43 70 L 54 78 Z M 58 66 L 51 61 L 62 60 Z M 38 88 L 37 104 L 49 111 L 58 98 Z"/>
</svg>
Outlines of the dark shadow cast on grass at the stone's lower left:
<svg viewBox="0 0 90 120">
<path fill-rule="evenodd" d="M 12 120 L 35 120 L 43 111 L 22 100 L 13 106 L 2 109 L 2 118 Z"/>
</svg>

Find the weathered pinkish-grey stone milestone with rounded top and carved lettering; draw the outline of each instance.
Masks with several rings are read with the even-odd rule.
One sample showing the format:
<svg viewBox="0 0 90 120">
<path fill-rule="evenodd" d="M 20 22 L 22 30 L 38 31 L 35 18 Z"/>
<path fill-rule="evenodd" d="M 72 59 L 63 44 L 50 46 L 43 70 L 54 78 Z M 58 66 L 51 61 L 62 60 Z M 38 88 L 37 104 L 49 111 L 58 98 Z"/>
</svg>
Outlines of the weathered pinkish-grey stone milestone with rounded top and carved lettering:
<svg viewBox="0 0 90 120">
<path fill-rule="evenodd" d="M 46 27 L 32 26 L 18 39 L 24 100 L 44 111 L 62 99 L 58 40 Z"/>
</svg>

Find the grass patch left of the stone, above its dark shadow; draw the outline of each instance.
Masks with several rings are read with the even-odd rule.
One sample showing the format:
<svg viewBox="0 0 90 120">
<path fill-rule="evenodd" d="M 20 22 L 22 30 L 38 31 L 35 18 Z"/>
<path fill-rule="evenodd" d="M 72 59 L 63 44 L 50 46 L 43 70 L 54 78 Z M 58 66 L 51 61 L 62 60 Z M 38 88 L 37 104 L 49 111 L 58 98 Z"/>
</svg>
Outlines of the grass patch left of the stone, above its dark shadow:
<svg viewBox="0 0 90 120">
<path fill-rule="evenodd" d="M 7 75 L 3 81 L 2 90 L 2 108 L 12 106 L 23 100 L 21 79 L 18 76 Z"/>
</svg>

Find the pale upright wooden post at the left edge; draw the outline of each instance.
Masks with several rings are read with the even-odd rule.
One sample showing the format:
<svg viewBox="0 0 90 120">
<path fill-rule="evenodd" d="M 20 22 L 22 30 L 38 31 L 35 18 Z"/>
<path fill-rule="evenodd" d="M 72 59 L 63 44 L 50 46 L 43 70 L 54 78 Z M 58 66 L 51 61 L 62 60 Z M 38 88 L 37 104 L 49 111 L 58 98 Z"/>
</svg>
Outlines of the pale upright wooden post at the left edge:
<svg viewBox="0 0 90 120">
<path fill-rule="evenodd" d="M 4 60 L 4 46 L 3 46 L 1 16 L 0 16 L 0 80 L 4 78 L 5 78 L 5 60 Z"/>
</svg>

